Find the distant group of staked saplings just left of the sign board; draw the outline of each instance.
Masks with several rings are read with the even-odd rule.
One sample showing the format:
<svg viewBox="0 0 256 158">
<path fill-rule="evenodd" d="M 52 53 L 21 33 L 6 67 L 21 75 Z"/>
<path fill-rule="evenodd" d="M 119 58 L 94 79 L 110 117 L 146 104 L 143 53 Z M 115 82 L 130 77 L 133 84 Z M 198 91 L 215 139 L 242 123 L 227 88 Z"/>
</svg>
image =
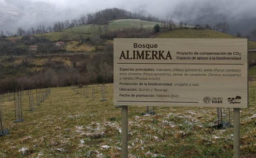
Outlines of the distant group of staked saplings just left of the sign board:
<svg viewBox="0 0 256 158">
<path fill-rule="evenodd" d="M 108 89 L 111 84 L 92 84 L 92 85 L 78 85 L 71 86 L 71 89 L 76 93 L 84 96 L 85 98 L 91 97 L 92 101 L 95 101 L 95 94 L 101 94 L 101 101 L 106 101 L 106 94 L 108 94 Z"/>
</svg>

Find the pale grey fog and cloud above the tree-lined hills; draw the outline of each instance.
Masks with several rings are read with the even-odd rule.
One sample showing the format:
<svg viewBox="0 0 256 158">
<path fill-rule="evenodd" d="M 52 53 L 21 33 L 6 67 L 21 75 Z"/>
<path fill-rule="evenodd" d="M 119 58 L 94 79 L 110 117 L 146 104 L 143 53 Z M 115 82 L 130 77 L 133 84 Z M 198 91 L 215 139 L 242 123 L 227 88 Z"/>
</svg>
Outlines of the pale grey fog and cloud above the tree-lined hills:
<svg viewBox="0 0 256 158">
<path fill-rule="evenodd" d="M 227 21 L 232 34 L 247 35 L 256 29 L 255 0 L 0 0 L 0 30 L 15 32 L 17 27 L 52 25 L 112 7 L 190 25 Z"/>
</svg>

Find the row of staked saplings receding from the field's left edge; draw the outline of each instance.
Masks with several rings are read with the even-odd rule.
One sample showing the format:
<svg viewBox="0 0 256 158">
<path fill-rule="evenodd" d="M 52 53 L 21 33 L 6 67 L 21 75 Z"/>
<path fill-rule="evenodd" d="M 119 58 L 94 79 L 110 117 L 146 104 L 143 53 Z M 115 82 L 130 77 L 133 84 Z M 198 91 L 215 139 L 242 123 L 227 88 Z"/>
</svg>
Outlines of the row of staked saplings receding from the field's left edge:
<svg viewBox="0 0 256 158">
<path fill-rule="evenodd" d="M 17 91 L 13 93 L 6 93 L 0 95 L 0 135 L 7 135 L 9 133 L 9 130 L 5 129 L 3 127 L 3 119 L 2 119 L 2 109 L 1 109 L 1 103 L 7 101 L 12 101 L 11 96 L 14 100 L 14 110 L 15 110 L 15 120 L 14 123 L 25 121 L 23 119 L 23 112 L 22 112 L 22 100 L 24 98 L 24 92 L 26 92 L 26 96 L 28 97 L 29 102 L 29 111 L 35 110 L 35 103 L 34 103 L 34 96 L 33 96 L 33 90 L 27 90 L 27 91 Z M 51 89 L 35 89 L 36 92 L 36 105 L 39 106 L 40 102 L 45 101 L 45 99 L 49 96 Z"/>
</svg>

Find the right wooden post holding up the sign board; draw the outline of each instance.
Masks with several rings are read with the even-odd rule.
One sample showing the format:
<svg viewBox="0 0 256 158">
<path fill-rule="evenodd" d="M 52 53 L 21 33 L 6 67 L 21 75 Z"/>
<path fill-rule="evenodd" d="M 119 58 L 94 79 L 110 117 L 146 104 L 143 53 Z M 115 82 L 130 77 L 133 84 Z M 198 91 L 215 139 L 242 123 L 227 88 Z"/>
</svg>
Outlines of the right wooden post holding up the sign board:
<svg viewBox="0 0 256 158">
<path fill-rule="evenodd" d="M 240 158 L 240 108 L 234 108 L 233 157 Z"/>
</svg>

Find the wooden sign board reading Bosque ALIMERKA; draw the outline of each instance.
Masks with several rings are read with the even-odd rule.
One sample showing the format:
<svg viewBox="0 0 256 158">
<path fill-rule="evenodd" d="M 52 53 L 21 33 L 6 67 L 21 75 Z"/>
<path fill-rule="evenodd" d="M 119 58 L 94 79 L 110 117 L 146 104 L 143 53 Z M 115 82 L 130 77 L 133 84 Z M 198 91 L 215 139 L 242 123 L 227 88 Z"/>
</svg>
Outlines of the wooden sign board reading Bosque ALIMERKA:
<svg viewBox="0 0 256 158">
<path fill-rule="evenodd" d="M 247 39 L 114 39 L 114 105 L 247 108 Z"/>
</svg>

